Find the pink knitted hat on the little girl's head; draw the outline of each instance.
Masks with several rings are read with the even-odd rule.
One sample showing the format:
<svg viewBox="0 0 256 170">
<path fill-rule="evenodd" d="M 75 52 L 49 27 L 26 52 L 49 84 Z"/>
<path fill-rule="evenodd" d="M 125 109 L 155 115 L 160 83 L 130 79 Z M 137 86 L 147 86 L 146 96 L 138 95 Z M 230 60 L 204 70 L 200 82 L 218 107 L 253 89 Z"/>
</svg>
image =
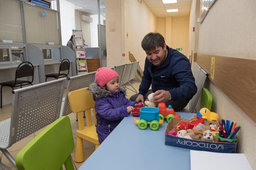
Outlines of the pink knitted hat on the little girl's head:
<svg viewBox="0 0 256 170">
<path fill-rule="evenodd" d="M 101 88 L 111 79 L 118 77 L 117 72 L 108 67 L 101 67 L 97 69 L 95 73 L 95 81 L 101 86 Z"/>
</svg>

